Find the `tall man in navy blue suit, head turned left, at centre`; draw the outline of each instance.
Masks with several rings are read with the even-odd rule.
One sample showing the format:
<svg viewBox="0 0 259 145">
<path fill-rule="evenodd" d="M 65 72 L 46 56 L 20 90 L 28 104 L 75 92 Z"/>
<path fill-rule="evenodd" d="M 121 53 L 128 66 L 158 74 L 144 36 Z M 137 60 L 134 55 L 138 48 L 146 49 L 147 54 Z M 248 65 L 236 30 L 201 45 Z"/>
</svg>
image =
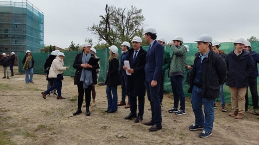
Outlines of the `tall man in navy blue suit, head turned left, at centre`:
<svg viewBox="0 0 259 145">
<path fill-rule="evenodd" d="M 149 27 L 145 30 L 145 41 L 150 43 L 146 54 L 145 86 L 150 101 L 152 118 L 144 125 L 152 126 L 150 132 L 162 129 L 161 102 L 159 99 L 160 81 L 162 80 L 163 46 L 156 39 L 156 30 Z"/>
</svg>

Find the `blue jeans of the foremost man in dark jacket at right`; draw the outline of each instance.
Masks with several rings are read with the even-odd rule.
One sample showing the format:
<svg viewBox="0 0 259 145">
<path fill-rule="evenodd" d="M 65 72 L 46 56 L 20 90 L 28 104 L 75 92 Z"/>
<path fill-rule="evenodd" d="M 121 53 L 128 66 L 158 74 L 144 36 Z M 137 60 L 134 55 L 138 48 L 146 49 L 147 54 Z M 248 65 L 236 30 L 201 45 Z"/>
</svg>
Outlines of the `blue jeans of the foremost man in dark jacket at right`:
<svg viewBox="0 0 259 145">
<path fill-rule="evenodd" d="M 212 132 L 214 122 L 214 101 L 215 99 L 207 99 L 202 97 L 202 88 L 193 86 L 191 94 L 192 109 L 195 116 L 195 125 L 203 127 L 206 132 Z M 202 112 L 204 106 L 204 114 Z"/>
</svg>

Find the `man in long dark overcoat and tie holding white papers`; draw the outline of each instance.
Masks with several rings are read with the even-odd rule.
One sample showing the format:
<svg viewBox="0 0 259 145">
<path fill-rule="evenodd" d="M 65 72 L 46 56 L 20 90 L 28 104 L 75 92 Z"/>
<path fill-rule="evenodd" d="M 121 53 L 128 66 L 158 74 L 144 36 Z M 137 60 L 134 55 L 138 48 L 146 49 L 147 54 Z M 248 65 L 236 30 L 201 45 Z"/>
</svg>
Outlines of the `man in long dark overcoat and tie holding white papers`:
<svg viewBox="0 0 259 145">
<path fill-rule="evenodd" d="M 128 75 L 127 94 L 130 96 L 130 114 L 125 119 L 136 117 L 135 123 L 143 120 L 145 104 L 145 59 L 146 51 L 141 47 L 142 40 L 140 37 L 133 37 L 132 46 L 124 60 L 129 61 L 130 68 L 123 66 L 123 69 L 131 73 Z M 123 63 L 123 62 L 122 62 Z M 136 97 L 138 96 L 138 114 L 136 115 Z"/>
</svg>

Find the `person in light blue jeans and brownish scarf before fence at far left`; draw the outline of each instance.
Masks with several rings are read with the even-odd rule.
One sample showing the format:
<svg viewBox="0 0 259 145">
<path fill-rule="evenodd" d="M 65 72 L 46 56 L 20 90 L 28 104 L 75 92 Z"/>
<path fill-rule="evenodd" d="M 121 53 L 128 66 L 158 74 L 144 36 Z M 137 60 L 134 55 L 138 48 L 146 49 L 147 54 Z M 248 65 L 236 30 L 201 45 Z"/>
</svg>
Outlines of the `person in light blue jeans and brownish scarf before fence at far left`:
<svg viewBox="0 0 259 145">
<path fill-rule="evenodd" d="M 26 51 L 26 55 L 24 56 L 22 60 L 23 68 L 22 70 L 25 71 L 25 83 L 34 83 L 33 82 L 33 66 L 34 66 L 34 60 L 29 50 Z M 30 78 L 29 78 L 30 73 Z"/>
</svg>

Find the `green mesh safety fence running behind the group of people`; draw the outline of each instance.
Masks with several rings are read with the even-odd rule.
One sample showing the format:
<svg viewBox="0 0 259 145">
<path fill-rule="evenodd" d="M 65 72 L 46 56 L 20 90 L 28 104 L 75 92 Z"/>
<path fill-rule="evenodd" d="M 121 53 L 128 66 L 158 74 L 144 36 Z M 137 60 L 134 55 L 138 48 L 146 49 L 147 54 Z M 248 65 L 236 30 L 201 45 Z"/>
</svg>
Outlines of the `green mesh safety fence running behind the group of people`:
<svg viewBox="0 0 259 145">
<path fill-rule="evenodd" d="M 186 54 L 186 62 L 188 65 L 193 65 L 193 60 L 195 58 L 195 54 L 198 52 L 197 49 L 197 43 L 184 43 L 184 45 L 188 45 L 190 47 L 190 51 L 187 52 Z M 257 51 L 259 52 L 259 42 L 251 42 L 252 45 L 252 50 L 253 51 Z M 148 50 L 149 46 L 143 46 L 144 50 Z M 172 54 L 172 50 L 169 46 L 165 46 L 165 49 Z M 227 42 L 227 43 L 221 43 L 221 47 L 220 50 L 224 50 L 226 54 L 230 53 L 232 50 L 234 50 L 234 44 Z M 96 55 L 98 57 L 100 57 L 100 64 L 101 64 L 101 72 L 100 72 L 100 76 L 99 76 L 99 80 L 98 81 L 105 81 L 106 80 L 106 74 L 108 71 L 108 67 L 109 67 L 109 49 L 98 49 L 96 50 L 97 53 Z M 119 48 L 119 52 L 121 52 L 121 48 Z M 71 66 L 68 70 L 64 71 L 64 75 L 66 76 L 74 76 L 75 74 L 75 69 L 72 67 L 73 66 L 73 62 L 74 59 L 77 55 L 77 53 L 81 53 L 81 51 L 68 51 L 68 52 L 64 52 L 65 54 L 65 58 L 64 58 L 64 66 Z M 21 73 L 24 73 L 24 71 L 22 70 L 22 59 L 24 57 L 24 53 L 18 53 L 18 70 Z M 34 67 L 33 67 L 33 72 L 35 74 L 46 74 L 44 73 L 44 64 L 46 59 L 48 58 L 48 56 L 50 55 L 50 53 L 32 53 L 33 59 L 35 61 Z M 121 53 L 119 53 L 119 58 L 121 57 Z M 187 75 L 187 72 L 185 72 L 185 76 Z M 172 92 L 172 88 L 171 88 L 171 84 L 170 84 L 170 78 L 168 77 L 168 70 L 166 70 L 165 72 L 165 80 L 164 80 L 164 90 L 166 92 Z M 189 88 L 189 84 L 186 83 L 186 77 L 184 77 L 183 80 L 183 88 L 184 88 L 184 92 L 187 96 L 190 96 L 191 94 L 187 93 L 187 90 Z M 231 95 L 230 95 L 230 91 L 229 91 L 229 87 L 224 85 L 224 93 L 225 93 L 225 100 L 226 102 L 231 102 Z M 251 96 L 251 93 L 249 91 L 249 96 Z M 218 97 L 217 100 L 220 100 L 220 98 Z M 252 99 L 250 97 L 250 101 L 249 104 L 252 105 Z"/>
</svg>

